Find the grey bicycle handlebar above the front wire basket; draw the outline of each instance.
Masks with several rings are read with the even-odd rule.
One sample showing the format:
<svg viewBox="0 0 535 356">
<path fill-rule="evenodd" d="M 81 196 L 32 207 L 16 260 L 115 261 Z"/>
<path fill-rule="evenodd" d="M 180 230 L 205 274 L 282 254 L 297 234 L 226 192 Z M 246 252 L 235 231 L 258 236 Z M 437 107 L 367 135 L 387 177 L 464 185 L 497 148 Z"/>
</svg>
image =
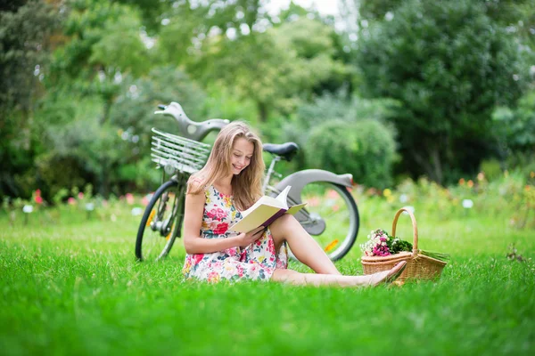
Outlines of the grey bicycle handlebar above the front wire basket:
<svg viewBox="0 0 535 356">
<path fill-rule="evenodd" d="M 171 101 L 169 105 L 158 105 L 158 109 L 160 110 L 154 111 L 154 114 L 174 117 L 177 120 L 180 134 L 195 141 L 202 141 L 210 132 L 221 130 L 230 122 L 221 118 L 195 122 L 185 115 L 184 109 L 176 101 Z"/>
</svg>

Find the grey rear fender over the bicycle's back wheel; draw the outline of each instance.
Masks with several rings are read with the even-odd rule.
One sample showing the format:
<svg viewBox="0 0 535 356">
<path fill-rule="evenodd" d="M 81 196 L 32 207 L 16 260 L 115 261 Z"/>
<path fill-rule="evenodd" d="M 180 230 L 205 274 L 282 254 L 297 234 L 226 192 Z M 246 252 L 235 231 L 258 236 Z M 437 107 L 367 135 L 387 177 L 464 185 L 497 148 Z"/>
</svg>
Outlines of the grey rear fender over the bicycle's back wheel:
<svg viewBox="0 0 535 356">
<path fill-rule="evenodd" d="M 322 169 L 305 169 L 285 177 L 276 185 L 276 190 L 282 191 L 286 186 L 292 186 L 288 196 L 296 203 L 301 203 L 301 190 L 310 182 L 332 182 L 351 188 L 352 181 L 352 174 L 333 174 Z"/>
</svg>

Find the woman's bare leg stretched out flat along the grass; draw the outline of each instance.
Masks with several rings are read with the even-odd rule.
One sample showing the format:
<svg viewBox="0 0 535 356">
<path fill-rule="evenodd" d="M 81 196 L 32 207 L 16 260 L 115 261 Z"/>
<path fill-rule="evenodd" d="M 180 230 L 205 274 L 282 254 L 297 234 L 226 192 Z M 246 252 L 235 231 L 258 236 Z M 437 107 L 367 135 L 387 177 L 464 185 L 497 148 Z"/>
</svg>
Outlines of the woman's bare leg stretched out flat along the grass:
<svg viewBox="0 0 535 356">
<path fill-rule="evenodd" d="M 366 287 L 377 286 L 398 278 L 406 262 L 398 263 L 390 271 L 382 271 L 367 276 L 341 276 L 335 274 L 300 273 L 298 271 L 276 269 L 271 280 L 299 286 L 340 286 Z"/>
</svg>

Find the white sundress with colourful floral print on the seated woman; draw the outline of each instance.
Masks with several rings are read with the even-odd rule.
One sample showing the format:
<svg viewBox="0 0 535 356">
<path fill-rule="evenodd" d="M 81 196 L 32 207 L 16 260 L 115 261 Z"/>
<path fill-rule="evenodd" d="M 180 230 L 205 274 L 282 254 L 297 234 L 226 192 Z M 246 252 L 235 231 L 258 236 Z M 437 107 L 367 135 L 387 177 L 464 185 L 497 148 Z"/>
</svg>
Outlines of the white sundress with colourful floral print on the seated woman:
<svg viewBox="0 0 535 356">
<path fill-rule="evenodd" d="M 204 239 L 226 239 L 237 236 L 228 227 L 239 222 L 242 214 L 236 210 L 232 196 L 220 193 L 213 186 L 204 190 L 206 202 L 202 216 L 201 237 Z M 210 254 L 185 255 L 183 273 L 186 279 L 202 279 L 218 282 L 241 279 L 268 280 L 276 268 L 288 266 L 287 247 L 284 243 L 279 252 L 271 231 L 267 229 L 262 237 L 245 248 L 232 247 Z"/>
</svg>

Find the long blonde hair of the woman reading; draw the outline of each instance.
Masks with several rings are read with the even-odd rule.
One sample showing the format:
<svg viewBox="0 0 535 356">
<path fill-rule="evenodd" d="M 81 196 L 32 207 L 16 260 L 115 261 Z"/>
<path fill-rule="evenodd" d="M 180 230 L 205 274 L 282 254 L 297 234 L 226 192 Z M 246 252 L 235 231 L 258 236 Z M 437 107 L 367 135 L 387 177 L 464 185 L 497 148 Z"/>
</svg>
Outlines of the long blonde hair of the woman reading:
<svg viewBox="0 0 535 356">
<path fill-rule="evenodd" d="M 254 151 L 249 166 L 232 177 L 234 204 L 239 210 L 245 210 L 262 196 L 262 178 L 266 168 L 262 158 L 262 142 L 248 125 L 240 121 L 226 125 L 219 132 L 206 165 L 190 177 L 187 194 L 199 194 L 206 187 L 232 173 L 232 149 L 239 138 L 251 142 Z"/>
</svg>

